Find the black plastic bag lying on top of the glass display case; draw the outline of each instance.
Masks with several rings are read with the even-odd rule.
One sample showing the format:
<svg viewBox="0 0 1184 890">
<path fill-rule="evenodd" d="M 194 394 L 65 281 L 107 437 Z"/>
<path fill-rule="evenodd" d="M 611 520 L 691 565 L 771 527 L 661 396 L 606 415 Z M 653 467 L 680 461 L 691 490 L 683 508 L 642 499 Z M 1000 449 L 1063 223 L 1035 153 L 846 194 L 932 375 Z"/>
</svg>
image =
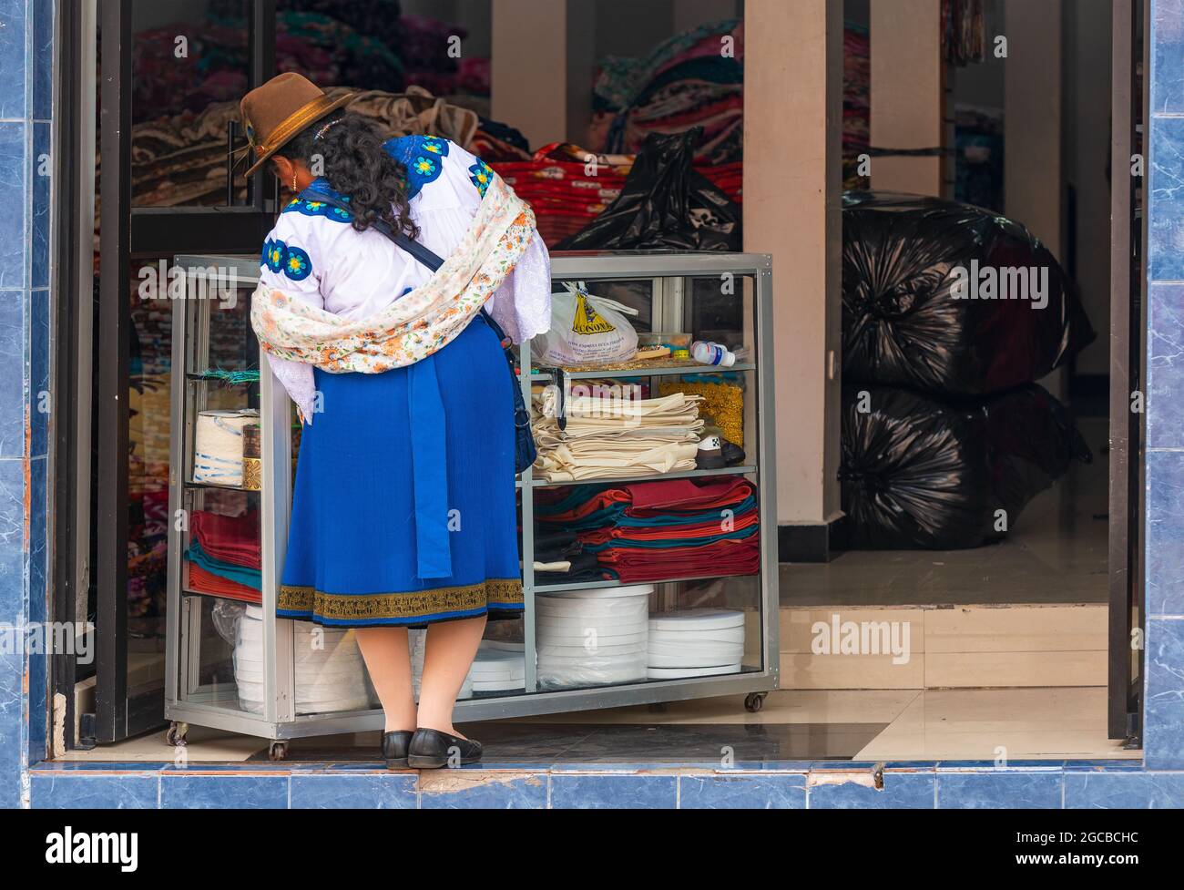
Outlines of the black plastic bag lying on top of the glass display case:
<svg viewBox="0 0 1184 890">
<path fill-rule="evenodd" d="M 702 130 L 646 136 L 617 200 L 555 250 L 739 251 L 740 206 L 693 166 Z"/>
</svg>

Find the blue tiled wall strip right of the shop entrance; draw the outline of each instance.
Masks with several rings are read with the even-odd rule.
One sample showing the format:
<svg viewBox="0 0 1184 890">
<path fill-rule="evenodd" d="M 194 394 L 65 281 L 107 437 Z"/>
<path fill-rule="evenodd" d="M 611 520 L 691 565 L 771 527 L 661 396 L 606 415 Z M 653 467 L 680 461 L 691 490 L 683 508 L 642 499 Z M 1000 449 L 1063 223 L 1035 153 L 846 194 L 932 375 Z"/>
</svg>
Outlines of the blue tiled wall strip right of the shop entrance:
<svg viewBox="0 0 1184 890">
<path fill-rule="evenodd" d="M 1184 769 L 1184 0 L 1151 17 L 1144 746 Z"/>
</svg>

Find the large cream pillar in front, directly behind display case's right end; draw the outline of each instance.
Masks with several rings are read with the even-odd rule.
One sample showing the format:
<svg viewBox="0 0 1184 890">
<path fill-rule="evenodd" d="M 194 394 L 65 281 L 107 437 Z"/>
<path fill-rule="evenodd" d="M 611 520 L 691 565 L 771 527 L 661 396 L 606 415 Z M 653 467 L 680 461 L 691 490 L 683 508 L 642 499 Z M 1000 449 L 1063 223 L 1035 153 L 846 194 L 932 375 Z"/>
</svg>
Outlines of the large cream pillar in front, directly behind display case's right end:
<svg viewBox="0 0 1184 890">
<path fill-rule="evenodd" d="M 745 250 L 773 254 L 781 525 L 839 511 L 842 52 L 841 4 L 746 0 Z"/>
</svg>

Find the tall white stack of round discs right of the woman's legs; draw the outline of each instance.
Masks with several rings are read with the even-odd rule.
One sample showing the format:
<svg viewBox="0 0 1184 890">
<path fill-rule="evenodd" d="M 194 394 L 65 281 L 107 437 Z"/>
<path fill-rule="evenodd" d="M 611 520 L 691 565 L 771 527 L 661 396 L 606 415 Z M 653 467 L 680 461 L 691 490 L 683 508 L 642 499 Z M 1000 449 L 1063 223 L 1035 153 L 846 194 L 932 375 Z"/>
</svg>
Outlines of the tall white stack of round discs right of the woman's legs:
<svg viewBox="0 0 1184 890">
<path fill-rule="evenodd" d="M 564 689 L 645 679 L 654 585 L 539 594 L 539 686 Z"/>
</svg>

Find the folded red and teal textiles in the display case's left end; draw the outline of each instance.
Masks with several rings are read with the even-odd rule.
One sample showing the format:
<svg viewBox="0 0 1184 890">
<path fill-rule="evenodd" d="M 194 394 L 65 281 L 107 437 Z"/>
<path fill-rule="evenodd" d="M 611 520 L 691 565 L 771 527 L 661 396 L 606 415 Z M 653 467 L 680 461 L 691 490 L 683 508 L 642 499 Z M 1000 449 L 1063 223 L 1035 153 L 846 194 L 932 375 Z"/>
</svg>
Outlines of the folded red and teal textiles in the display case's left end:
<svg viewBox="0 0 1184 890">
<path fill-rule="evenodd" d="M 189 569 L 186 589 L 240 602 L 263 601 L 257 510 L 242 516 L 194 510 L 189 530 L 193 538 L 185 554 Z"/>
</svg>

